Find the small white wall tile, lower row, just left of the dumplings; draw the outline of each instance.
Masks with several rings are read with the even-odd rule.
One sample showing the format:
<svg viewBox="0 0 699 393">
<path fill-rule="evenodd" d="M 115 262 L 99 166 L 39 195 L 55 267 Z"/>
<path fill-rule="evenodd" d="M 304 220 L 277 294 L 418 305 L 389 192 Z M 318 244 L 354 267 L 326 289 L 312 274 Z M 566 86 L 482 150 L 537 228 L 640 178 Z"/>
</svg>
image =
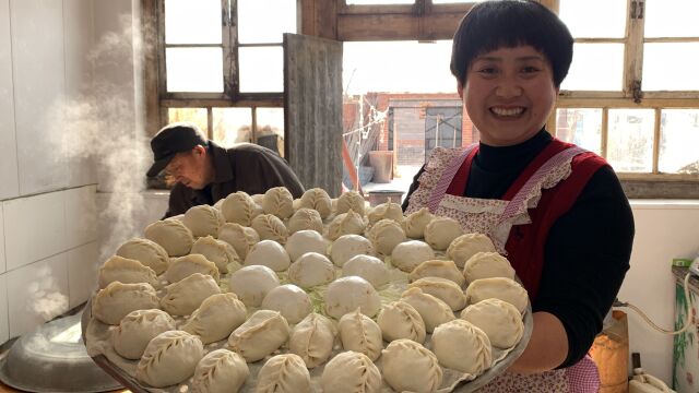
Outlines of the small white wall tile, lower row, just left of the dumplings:
<svg viewBox="0 0 699 393">
<path fill-rule="evenodd" d="M 79 306 L 97 289 L 97 271 L 100 261 L 96 241 L 68 251 L 68 282 L 70 308 Z"/>
</svg>

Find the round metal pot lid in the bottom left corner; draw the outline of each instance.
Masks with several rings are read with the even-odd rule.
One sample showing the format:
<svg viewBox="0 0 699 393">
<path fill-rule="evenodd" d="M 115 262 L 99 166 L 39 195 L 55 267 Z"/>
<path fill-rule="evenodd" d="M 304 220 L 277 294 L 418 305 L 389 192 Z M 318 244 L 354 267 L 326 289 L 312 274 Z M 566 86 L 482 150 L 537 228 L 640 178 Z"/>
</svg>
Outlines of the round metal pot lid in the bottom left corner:
<svg viewBox="0 0 699 393">
<path fill-rule="evenodd" d="M 0 360 L 0 380 L 39 393 L 92 393 L 122 385 L 99 368 L 82 343 L 81 313 L 57 319 L 14 342 Z"/>
</svg>

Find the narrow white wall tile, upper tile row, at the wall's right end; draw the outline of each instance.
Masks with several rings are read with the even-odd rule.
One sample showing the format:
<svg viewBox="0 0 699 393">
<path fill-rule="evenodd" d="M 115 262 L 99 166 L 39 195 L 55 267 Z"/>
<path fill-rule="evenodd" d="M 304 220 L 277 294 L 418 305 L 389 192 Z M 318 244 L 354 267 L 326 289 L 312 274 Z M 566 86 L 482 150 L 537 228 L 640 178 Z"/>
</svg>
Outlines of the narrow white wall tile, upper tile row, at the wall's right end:
<svg viewBox="0 0 699 393">
<path fill-rule="evenodd" d="M 66 247 L 74 248 L 97 239 L 96 186 L 63 191 L 66 194 Z"/>
</svg>

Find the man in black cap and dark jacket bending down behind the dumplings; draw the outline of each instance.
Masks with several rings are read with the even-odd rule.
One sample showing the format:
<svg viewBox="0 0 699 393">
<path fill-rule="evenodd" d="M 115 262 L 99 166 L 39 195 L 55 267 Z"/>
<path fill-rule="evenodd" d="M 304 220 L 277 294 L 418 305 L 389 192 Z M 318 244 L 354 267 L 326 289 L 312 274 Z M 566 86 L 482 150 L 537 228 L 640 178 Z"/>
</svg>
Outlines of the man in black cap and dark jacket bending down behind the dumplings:
<svg viewBox="0 0 699 393">
<path fill-rule="evenodd" d="M 165 170 L 176 181 L 165 218 L 209 204 L 236 191 L 250 195 L 286 187 L 294 198 L 304 193 L 288 163 L 273 151 L 251 143 L 225 148 L 189 122 L 162 128 L 151 140 L 154 163 L 149 177 Z"/>
</svg>

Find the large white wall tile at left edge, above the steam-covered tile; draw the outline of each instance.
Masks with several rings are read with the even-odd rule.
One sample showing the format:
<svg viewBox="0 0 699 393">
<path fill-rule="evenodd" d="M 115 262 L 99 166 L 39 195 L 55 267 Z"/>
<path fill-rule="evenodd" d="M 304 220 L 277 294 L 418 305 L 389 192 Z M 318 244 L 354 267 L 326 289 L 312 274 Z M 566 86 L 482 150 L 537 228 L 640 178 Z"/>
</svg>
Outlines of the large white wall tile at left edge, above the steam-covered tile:
<svg viewBox="0 0 699 393">
<path fill-rule="evenodd" d="M 4 201 L 3 215 L 8 271 L 68 249 L 63 191 Z"/>
</svg>

